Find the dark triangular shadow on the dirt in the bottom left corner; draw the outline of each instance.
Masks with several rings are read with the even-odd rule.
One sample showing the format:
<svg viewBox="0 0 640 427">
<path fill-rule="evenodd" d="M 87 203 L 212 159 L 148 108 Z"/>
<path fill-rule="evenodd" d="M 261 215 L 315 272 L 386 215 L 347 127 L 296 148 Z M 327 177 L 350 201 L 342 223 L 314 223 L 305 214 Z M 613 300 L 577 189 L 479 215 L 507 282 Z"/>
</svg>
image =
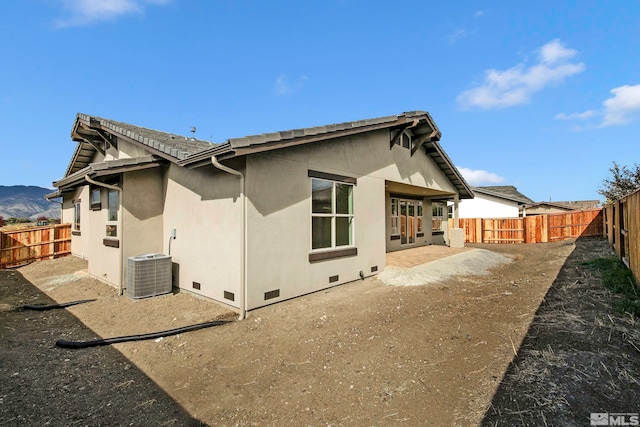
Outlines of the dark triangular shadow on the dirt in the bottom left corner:
<svg viewBox="0 0 640 427">
<path fill-rule="evenodd" d="M 63 349 L 96 335 L 14 270 L 0 270 L 0 425 L 202 426 L 112 347 Z"/>
</svg>

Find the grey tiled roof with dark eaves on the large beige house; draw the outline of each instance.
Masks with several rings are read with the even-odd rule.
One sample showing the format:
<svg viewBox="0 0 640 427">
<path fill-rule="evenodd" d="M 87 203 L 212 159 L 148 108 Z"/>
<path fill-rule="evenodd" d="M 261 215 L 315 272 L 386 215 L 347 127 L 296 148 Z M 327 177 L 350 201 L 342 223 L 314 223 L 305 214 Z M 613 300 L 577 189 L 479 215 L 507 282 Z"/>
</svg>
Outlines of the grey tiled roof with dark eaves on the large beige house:
<svg viewBox="0 0 640 427">
<path fill-rule="evenodd" d="M 219 160 L 225 160 L 261 151 L 326 141 L 381 129 L 397 131 L 396 135 L 404 130 L 410 130 L 414 141 L 411 155 L 419 149 L 423 149 L 454 184 L 461 198 L 473 198 L 471 188 L 438 142 L 441 137 L 440 130 L 429 113 L 425 111 L 412 111 L 397 116 L 231 138 L 220 144 L 80 113 L 76 117 L 71 132 L 72 139 L 78 142 L 78 147 L 67 168 L 65 178 L 57 183 L 66 182 L 67 178 L 76 173 L 82 175 L 94 155 L 97 152 L 104 154 L 109 146 L 117 146 L 118 138 L 142 145 L 158 158 L 176 163 L 179 166 L 192 168 L 210 164 L 212 156 L 216 156 Z M 393 140 L 390 141 L 391 144 L 393 142 Z"/>
</svg>

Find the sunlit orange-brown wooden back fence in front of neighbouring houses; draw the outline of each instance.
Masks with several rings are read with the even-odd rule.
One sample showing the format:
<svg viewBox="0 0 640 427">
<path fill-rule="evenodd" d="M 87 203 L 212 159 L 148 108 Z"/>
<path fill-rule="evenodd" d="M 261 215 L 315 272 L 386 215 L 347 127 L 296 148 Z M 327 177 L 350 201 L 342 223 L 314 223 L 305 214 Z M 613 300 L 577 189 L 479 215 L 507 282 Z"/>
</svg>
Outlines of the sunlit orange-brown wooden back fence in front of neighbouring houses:
<svg viewBox="0 0 640 427">
<path fill-rule="evenodd" d="M 460 218 L 467 243 L 541 243 L 604 236 L 602 209 L 520 218 Z M 455 227 L 453 219 L 449 228 Z"/>
</svg>

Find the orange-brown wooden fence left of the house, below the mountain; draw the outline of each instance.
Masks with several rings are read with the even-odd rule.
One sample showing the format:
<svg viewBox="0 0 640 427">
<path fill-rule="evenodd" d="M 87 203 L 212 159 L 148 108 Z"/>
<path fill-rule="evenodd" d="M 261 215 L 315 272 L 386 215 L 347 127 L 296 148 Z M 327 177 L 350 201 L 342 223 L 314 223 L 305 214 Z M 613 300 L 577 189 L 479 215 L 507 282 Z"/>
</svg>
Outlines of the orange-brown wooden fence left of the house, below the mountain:
<svg viewBox="0 0 640 427">
<path fill-rule="evenodd" d="M 71 224 L 0 231 L 0 268 L 71 253 Z"/>
</svg>

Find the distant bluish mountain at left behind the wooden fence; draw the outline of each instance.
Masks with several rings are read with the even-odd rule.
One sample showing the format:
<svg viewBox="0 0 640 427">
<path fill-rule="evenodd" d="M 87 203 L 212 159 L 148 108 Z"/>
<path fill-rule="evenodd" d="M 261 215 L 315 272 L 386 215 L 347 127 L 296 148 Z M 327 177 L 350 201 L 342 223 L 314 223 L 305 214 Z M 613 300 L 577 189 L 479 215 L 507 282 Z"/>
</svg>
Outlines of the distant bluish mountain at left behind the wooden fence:
<svg viewBox="0 0 640 427">
<path fill-rule="evenodd" d="M 54 190 L 25 185 L 0 185 L 0 216 L 4 219 L 39 216 L 60 218 L 60 204 L 44 198 Z"/>
</svg>

